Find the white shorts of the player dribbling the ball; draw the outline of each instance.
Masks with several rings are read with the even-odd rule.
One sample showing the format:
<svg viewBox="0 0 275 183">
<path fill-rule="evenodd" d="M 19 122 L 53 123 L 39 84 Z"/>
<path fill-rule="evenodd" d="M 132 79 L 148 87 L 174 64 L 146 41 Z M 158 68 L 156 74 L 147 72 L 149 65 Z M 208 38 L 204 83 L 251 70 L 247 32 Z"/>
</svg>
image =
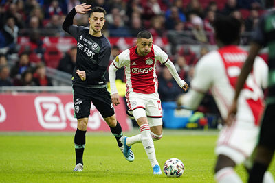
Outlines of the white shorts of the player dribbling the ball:
<svg viewBox="0 0 275 183">
<path fill-rule="evenodd" d="M 158 93 L 126 93 L 126 103 L 135 120 L 147 117 L 151 127 L 162 125 L 162 103 Z"/>
</svg>

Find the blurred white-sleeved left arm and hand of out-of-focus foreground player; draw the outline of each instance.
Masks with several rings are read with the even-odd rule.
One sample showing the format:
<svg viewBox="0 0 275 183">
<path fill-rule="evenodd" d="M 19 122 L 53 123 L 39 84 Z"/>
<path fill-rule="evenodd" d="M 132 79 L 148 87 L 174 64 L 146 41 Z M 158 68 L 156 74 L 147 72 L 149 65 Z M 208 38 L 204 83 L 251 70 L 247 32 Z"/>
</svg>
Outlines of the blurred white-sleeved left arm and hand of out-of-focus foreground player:
<svg viewBox="0 0 275 183">
<path fill-rule="evenodd" d="M 212 68 L 207 59 L 201 59 L 195 66 L 195 74 L 191 81 L 192 87 L 188 93 L 179 95 L 177 106 L 189 110 L 196 110 L 203 99 L 204 94 L 212 83 Z"/>
</svg>

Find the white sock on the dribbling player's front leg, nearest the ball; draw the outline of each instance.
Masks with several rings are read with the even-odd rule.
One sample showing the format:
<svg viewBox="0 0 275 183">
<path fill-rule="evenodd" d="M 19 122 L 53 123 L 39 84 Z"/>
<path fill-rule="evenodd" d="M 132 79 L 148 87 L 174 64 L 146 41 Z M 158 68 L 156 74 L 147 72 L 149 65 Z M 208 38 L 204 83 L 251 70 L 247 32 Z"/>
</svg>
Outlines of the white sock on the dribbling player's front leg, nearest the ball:
<svg viewBox="0 0 275 183">
<path fill-rule="evenodd" d="M 142 145 L 146 151 L 148 159 L 151 162 L 151 166 L 154 167 L 156 164 L 159 165 L 159 163 L 155 157 L 155 147 L 150 132 L 150 127 L 148 124 L 140 126 Z"/>
</svg>

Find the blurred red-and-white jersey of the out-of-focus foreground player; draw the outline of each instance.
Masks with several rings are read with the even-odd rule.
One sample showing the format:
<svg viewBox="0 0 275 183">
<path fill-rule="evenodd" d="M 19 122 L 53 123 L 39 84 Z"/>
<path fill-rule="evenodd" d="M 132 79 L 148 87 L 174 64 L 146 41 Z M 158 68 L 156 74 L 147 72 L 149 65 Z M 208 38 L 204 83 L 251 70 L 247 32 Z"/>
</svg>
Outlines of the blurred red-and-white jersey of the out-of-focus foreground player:
<svg viewBox="0 0 275 183">
<path fill-rule="evenodd" d="M 247 56 L 247 51 L 230 45 L 217 51 L 211 51 L 203 56 L 195 66 L 195 76 L 191 82 L 192 88 L 202 93 L 206 93 L 210 88 L 223 119 L 226 119 L 228 115 L 236 82 Z M 259 122 L 261 112 L 263 112 L 263 91 L 261 88 L 267 87 L 267 74 L 267 64 L 263 59 L 257 57 L 253 71 L 248 76 L 244 89 L 239 96 L 236 120 L 254 121 L 255 124 Z M 199 94 L 197 93 L 197 95 Z M 184 105 L 192 106 L 192 102 L 194 103 L 196 98 L 199 97 L 188 96 Z"/>
</svg>

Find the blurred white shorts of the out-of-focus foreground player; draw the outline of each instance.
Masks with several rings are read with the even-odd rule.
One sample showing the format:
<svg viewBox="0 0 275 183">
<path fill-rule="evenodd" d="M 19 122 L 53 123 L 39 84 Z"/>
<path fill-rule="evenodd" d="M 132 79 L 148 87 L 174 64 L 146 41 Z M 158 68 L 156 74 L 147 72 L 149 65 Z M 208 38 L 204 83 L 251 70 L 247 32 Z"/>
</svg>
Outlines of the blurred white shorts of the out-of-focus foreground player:
<svg viewBox="0 0 275 183">
<path fill-rule="evenodd" d="M 236 164 L 241 164 L 254 151 L 258 135 L 259 127 L 251 121 L 235 121 L 219 133 L 215 154 L 223 154 Z"/>
</svg>

